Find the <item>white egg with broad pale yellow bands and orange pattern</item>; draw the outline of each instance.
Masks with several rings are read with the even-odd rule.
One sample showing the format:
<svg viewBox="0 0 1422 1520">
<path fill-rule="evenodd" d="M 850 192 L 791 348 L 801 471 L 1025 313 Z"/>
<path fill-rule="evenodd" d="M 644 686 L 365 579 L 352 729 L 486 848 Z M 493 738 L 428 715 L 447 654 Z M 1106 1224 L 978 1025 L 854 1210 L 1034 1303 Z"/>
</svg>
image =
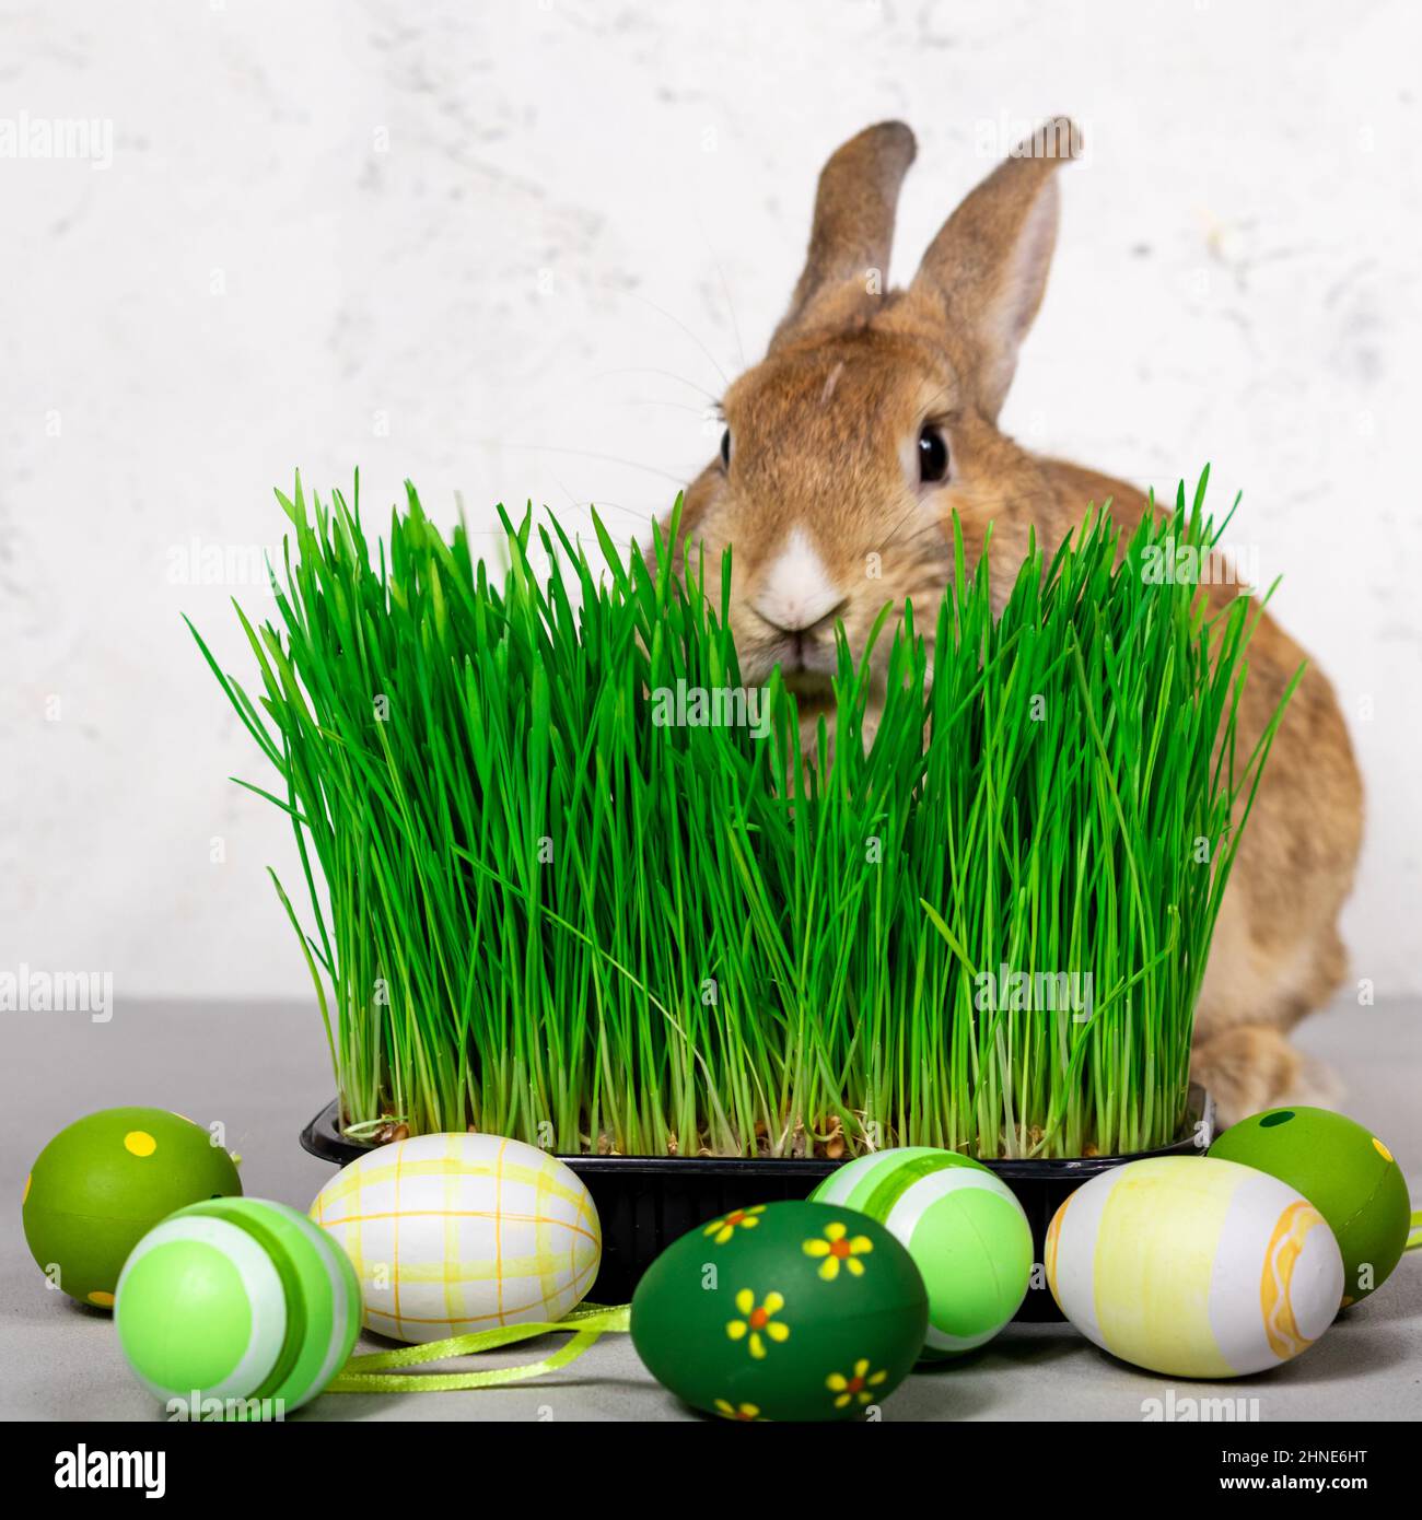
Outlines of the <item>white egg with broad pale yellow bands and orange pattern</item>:
<svg viewBox="0 0 1422 1520">
<path fill-rule="evenodd" d="M 1317 1208 L 1211 1157 L 1150 1157 L 1071 1193 L 1046 1281 L 1103 1350 L 1173 1377 L 1238 1377 L 1306 1351 L 1338 1312 L 1343 1259 Z"/>
</svg>

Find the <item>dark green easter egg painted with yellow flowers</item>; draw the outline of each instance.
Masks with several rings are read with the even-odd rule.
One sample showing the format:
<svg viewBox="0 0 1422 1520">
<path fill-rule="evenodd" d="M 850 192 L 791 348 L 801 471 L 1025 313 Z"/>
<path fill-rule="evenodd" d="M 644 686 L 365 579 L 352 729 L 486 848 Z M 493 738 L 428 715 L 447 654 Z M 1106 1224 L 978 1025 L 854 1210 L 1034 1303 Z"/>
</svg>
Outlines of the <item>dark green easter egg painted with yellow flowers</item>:
<svg viewBox="0 0 1422 1520">
<path fill-rule="evenodd" d="M 727 1420 L 850 1420 L 903 1380 L 928 1295 L 913 1257 L 853 1208 L 738 1208 L 672 1242 L 631 1335 L 674 1394 Z"/>
</svg>

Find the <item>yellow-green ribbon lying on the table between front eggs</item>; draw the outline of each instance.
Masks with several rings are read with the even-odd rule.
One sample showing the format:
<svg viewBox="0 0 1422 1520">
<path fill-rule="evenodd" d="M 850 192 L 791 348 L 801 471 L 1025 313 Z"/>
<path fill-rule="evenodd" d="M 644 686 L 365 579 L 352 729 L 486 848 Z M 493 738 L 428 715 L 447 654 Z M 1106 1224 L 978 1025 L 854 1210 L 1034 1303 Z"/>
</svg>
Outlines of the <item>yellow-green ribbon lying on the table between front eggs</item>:
<svg viewBox="0 0 1422 1520">
<path fill-rule="evenodd" d="M 627 1330 L 631 1319 L 631 1304 L 616 1309 L 602 1304 L 582 1304 L 572 1313 L 554 1321 L 532 1321 L 519 1325 L 499 1325 L 494 1330 L 479 1330 L 475 1335 L 456 1335 L 447 1341 L 429 1341 L 424 1345 L 406 1345 L 398 1351 L 373 1351 L 368 1356 L 353 1356 L 327 1385 L 329 1394 L 441 1394 L 459 1388 L 500 1388 L 519 1383 L 526 1377 L 555 1373 L 560 1366 L 575 1362 L 602 1335 L 611 1330 Z M 426 1362 L 447 1362 L 453 1356 L 476 1356 L 479 1351 L 494 1351 L 519 1341 L 531 1341 L 540 1335 L 573 1332 L 572 1341 L 551 1356 L 522 1366 L 499 1366 L 488 1373 L 402 1373 L 400 1368 L 423 1366 Z"/>
</svg>

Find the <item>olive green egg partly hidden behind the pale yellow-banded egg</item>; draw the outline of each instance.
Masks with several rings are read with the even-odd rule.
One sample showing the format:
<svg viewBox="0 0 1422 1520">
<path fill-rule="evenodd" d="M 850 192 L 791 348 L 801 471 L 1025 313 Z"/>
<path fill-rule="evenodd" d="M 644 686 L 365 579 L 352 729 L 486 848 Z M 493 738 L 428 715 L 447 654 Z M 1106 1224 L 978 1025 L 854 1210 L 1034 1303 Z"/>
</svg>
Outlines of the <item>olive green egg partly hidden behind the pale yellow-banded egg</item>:
<svg viewBox="0 0 1422 1520">
<path fill-rule="evenodd" d="M 1402 1259 L 1411 1204 L 1402 1167 L 1363 1125 L 1326 1108 L 1270 1108 L 1232 1125 L 1212 1157 L 1253 1166 L 1302 1193 L 1343 1252 L 1343 1304 L 1381 1287 Z"/>
</svg>

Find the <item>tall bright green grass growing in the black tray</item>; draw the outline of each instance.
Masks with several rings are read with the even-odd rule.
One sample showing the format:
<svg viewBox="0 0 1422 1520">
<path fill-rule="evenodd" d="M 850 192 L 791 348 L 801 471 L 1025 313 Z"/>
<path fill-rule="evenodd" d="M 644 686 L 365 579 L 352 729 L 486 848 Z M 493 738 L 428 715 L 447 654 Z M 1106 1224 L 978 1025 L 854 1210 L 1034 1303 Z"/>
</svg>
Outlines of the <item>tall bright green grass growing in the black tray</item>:
<svg viewBox="0 0 1422 1520">
<path fill-rule="evenodd" d="M 412 486 L 383 543 L 339 492 L 278 492 L 277 622 L 239 608 L 256 701 L 195 637 L 294 825 L 309 932 L 277 891 L 344 1122 L 654 1155 L 1176 1138 L 1273 737 L 1235 752 L 1261 603 L 1142 575 L 1168 535 L 1217 541 L 1203 494 L 1130 534 L 1087 511 L 998 567 L 999 619 L 957 538 L 870 745 L 841 638 L 826 768 L 779 672 L 765 737 L 654 722 L 657 689 L 741 684 L 722 567 L 678 579 L 660 534 L 648 570 L 601 523 L 589 556 L 500 509 L 491 575 Z M 1077 982 L 1024 1006 L 1001 967 Z"/>
</svg>

